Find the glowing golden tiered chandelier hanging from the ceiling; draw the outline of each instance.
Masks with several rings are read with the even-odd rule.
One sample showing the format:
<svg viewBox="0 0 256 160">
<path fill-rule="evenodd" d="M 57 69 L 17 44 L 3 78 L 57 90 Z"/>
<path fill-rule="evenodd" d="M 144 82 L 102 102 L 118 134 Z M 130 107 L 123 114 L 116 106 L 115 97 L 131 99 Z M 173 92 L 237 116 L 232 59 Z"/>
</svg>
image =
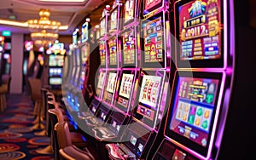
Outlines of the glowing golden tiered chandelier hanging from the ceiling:
<svg viewBox="0 0 256 160">
<path fill-rule="evenodd" d="M 27 20 L 27 25 L 31 31 L 32 41 L 35 45 L 44 46 L 47 43 L 54 42 L 58 37 L 61 22 L 49 20 L 49 10 L 40 9 L 40 19 Z"/>
</svg>

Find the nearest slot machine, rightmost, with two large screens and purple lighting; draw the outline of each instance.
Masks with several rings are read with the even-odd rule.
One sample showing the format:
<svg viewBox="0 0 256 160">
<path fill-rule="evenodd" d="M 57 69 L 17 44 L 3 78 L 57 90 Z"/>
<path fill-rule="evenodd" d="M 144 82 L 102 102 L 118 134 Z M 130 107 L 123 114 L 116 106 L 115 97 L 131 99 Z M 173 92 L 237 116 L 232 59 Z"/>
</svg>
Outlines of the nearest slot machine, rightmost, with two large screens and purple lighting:
<svg viewBox="0 0 256 160">
<path fill-rule="evenodd" d="M 174 4 L 177 71 L 165 138 L 153 159 L 218 159 L 234 70 L 229 6 L 225 0 Z"/>
</svg>

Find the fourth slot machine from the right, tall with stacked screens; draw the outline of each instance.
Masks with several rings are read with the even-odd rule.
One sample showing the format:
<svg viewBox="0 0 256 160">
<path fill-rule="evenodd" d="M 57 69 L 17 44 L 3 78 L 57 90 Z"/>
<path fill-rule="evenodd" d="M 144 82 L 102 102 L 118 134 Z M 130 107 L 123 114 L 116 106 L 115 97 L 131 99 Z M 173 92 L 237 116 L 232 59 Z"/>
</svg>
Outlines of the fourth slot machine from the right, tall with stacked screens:
<svg viewBox="0 0 256 160">
<path fill-rule="evenodd" d="M 102 103 L 98 108 L 98 111 L 96 113 L 95 121 L 94 118 L 88 119 L 86 121 L 87 125 L 89 126 L 99 126 L 103 122 L 106 122 L 108 120 L 109 115 L 112 113 L 113 110 L 113 95 L 116 92 L 117 83 L 119 79 L 119 37 L 117 34 L 117 31 L 119 30 L 118 21 L 119 21 L 119 13 L 120 8 L 122 6 L 122 3 L 113 3 L 113 9 L 109 9 L 108 12 L 108 18 L 109 23 L 108 25 L 108 34 L 105 34 L 105 37 L 102 37 L 102 39 L 105 39 L 107 42 L 107 59 L 106 59 L 106 68 L 105 68 L 105 86 L 102 91 Z M 101 73 L 100 73 L 101 74 Z M 98 120 L 102 119 L 102 122 L 99 122 Z M 99 129 L 99 131 L 102 131 L 102 128 Z M 97 134 L 97 133 L 96 133 Z"/>
</svg>

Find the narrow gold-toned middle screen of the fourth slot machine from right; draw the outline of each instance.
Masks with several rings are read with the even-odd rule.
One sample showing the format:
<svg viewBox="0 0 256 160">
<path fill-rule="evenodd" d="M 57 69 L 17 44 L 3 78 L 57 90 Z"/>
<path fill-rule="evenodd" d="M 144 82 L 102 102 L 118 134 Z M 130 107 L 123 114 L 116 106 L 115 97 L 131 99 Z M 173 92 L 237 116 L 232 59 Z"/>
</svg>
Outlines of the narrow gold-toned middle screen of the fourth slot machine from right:
<svg viewBox="0 0 256 160">
<path fill-rule="evenodd" d="M 117 39 L 116 37 L 108 40 L 109 66 L 117 66 Z"/>
</svg>

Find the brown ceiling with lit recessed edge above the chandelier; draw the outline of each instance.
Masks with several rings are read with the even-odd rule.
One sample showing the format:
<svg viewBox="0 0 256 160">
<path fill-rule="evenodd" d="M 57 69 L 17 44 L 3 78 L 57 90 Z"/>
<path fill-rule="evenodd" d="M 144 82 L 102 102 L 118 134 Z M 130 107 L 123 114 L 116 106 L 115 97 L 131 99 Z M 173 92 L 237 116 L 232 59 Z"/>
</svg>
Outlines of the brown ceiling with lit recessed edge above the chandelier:
<svg viewBox="0 0 256 160">
<path fill-rule="evenodd" d="M 1 20 L 13 20 L 24 23 L 26 20 L 38 19 L 39 9 L 49 9 L 49 20 L 58 20 L 67 30 L 59 31 L 60 35 L 71 35 L 79 24 L 90 17 L 92 26 L 99 23 L 102 11 L 113 0 L 84 0 L 84 2 L 44 2 L 42 0 L 1 0 L 0 31 L 29 33 L 27 27 L 1 25 Z"/>
</svg>

